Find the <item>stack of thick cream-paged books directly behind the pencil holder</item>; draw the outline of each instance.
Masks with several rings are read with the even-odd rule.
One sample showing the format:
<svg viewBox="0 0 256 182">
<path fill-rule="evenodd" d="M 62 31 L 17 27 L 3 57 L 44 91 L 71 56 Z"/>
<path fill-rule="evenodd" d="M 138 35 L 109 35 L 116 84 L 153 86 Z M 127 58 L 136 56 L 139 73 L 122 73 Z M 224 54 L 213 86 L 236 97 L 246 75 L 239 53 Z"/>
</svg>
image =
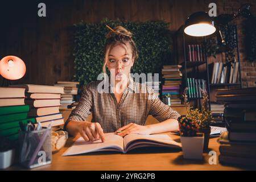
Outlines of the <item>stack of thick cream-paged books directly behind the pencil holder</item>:
<svg viewBox="0 0 256 182">
<path fill-rule="evenodd" d="M 60 86 L 47 85 L 11 85 L 26 89 L 25 104 L 30 105 L 28 117 L 35 118 L 35 122 L 41 122 L 43 127 L 52 123 L 52 127 L 64 124 L 64 119 L 59 111 L 60 94 L 64 88 Z"/>
</svg>

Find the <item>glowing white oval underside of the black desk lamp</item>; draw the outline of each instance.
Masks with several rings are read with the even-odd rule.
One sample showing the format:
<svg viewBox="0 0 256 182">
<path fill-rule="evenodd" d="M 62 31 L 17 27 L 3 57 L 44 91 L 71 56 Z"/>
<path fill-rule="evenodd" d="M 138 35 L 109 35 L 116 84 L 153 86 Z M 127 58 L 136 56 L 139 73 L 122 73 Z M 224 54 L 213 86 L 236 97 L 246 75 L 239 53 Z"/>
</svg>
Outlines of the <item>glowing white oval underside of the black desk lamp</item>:
<svg viewBox="0 0 256 182">
<path fill-rule="evenodd" d="M 207 23 L 192 24 L 184 29 L 185 34 L 191 36 L 207 36 L 215 31 L 216 28 Z"/>
</svg>

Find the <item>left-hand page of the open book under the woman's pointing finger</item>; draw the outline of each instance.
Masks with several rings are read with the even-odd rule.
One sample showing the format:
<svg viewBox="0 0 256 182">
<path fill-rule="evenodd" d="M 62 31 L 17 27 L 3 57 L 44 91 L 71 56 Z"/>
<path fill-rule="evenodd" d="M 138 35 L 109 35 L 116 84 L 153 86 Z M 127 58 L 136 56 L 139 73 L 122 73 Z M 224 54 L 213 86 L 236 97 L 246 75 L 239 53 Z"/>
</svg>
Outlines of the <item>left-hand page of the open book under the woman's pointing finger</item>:
<svg viewBox="0 0 256 182">
<path fill-rule="evenodd" d="M 76 140 L 63 156 L 85 154 L 97 151 L 121 151 L 123 152 L 123 138 L 114 133 L 105 133 L 105 142 L 101 139 L 93 142 L 85 142 L 84 138 L 80 137 Z"/>
</svg>

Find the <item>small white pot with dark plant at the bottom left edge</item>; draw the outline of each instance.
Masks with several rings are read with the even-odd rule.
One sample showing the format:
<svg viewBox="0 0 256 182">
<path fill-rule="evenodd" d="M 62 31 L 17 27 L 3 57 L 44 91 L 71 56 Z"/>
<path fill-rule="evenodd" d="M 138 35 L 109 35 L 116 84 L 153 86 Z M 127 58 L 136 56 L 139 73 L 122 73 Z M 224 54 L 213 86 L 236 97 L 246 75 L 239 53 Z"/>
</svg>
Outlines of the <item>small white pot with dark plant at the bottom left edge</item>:
<svg viewBox="0 0 256 182">
<path fill-rule="evenodd" d="M 14 162 L 14 146 L 13 142 L 5 137 L 0 138 L 0 169 L 11 166 Z"/>
</svg>

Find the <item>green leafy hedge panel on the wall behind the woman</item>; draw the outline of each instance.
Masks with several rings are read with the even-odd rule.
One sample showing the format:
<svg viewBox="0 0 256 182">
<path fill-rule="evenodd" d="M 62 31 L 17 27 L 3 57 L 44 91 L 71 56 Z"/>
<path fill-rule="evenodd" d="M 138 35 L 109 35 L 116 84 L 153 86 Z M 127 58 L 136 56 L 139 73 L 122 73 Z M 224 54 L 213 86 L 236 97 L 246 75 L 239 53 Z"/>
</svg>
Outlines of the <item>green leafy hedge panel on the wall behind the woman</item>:
<svg viewBox="0 0 256 182">
<path fill-rule="evenodd" d="M 166 22 L 122 22 L 121 20 L 104 19 L 100 23 L 75 24 L 75 80 L 86 85 L 96 81 L 102 73 L 104 60 L 105 36 L 109 29 L 121 25 L 133 33 L 137 44 L 139 59 L 135 62 L 131 73 L 160 73 L 163 64 L 171 61 L 171 32 Z"/>
</svg>

